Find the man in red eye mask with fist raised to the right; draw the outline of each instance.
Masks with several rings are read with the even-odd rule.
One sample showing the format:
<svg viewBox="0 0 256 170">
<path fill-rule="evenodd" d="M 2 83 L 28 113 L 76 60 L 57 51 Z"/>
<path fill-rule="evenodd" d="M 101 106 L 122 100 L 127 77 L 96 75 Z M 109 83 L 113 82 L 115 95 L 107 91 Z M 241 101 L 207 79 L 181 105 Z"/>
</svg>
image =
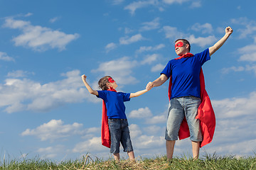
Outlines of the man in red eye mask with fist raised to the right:
<svg viewBox="0 0 256 170">
<path fill-rule="evenodd" d="M 146 85 L 146 89 L 150 90 L 155 86 L 161 86 L 171 77 L 171 96 L 169 96 L 165 137 L 167 159 L 173 157 L 174 145 L 178 140 L 178 131 L 184 118 L 186 118 L 189 128 L 193 158 L 198 159 L 200 143 L 203 140 L 200 120 L 196 118 L 198 107 L 201 104 L 201 78 L 199 77 L 201 67 L 204 62 L 210 60 L 210 56 L 228 40 L 232 33 L 232 28 L 228 26 L 225 28 L 223 38 L 212 47 L 196 55 L 189 53 L 191 46 L 187 40 L 176 40 L 175 51 L 180 57 L 170 60 L 161 72 L 161 76 Z"/>
</svg>

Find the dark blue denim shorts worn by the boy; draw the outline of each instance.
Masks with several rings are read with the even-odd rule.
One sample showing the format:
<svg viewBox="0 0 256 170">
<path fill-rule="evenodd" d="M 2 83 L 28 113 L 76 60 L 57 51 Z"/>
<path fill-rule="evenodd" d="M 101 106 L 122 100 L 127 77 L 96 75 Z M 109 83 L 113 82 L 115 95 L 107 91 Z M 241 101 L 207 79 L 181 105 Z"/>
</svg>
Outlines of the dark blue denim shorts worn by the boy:
<svg viewBox="0 0 256 170">
<path fill-rule="evenodd" d="M 110 153 L 119 153 L 120 142 L 124 152 L 133 151 L 127 119 L 108 119 L 108 124 L 111 137 Z"/>
</svg>

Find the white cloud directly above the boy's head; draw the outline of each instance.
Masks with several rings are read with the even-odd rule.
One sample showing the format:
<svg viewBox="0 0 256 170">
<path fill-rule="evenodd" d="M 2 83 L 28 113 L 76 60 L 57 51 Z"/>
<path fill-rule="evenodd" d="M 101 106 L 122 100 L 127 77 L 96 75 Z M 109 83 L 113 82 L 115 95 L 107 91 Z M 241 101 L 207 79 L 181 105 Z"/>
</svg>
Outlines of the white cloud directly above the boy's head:
<svg viewBox="0 0 256 170">
<path fill-rule="evenodd" d="M 110 75 L 117 84 L 135 84 L 137 79 L 132 76 L 132 68 L 137 66 L 136 61 L 129 60 L 129 57 L 122 57 L 118 60 L 103 62 L 92 72 L 104 72 L 104 75 Z"/>
</svg>

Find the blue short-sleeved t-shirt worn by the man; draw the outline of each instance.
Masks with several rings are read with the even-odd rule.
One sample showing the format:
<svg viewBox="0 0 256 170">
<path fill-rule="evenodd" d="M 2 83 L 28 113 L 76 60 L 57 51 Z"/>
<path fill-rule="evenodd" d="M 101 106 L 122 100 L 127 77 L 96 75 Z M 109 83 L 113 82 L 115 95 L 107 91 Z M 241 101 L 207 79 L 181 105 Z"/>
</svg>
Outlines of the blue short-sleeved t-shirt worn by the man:
<svg viewBox="0 0 256 170">
<path fill-rule="evenodd" d="M 193 57 L 170 60 L 161 74 L 172 76 L 171 98 L 195 96 L 200 98 L 199 74 L 203 64 L 210 60 L 206 49 Z"/>
</svg>

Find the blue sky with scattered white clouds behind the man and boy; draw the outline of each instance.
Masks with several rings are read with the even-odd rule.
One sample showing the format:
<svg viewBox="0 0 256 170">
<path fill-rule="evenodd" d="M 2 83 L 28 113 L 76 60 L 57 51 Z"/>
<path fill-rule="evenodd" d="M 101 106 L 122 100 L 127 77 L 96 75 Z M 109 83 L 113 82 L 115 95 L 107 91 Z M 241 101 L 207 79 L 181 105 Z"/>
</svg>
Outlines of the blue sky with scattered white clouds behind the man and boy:
<svg viewBox="0 0 256 170">
<path fill-rule="evenodd" d="M 102 101 L 89 94 L 110 75 L 117 91 L 136 92 L 176 57 L 233 34 L 203 65 L 216 116 L 213 142 L 201 155 L 256 152 L 256 21 L 254 1 L 0 1 L 1 158 L 108 158 L 100 143 Z M 168 83 L 126 102 L 135 157 L 164 155 Z M 176 142 L 174 156 L 191 155 Z M 121 157 L 127 158 L 122 152 Z"/>
</svg>

